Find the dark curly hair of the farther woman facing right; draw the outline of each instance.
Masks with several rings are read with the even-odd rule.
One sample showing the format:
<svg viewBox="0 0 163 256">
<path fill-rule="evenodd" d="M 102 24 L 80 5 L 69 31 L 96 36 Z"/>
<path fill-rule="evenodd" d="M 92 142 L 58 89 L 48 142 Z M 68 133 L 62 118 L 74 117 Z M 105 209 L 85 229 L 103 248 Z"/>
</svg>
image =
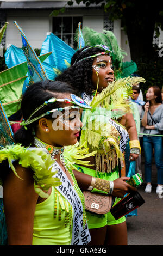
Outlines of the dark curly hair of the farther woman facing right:
<svg viewBox="0 0 163 256">
<path fill-rule="evenodd" d="M 92 65 L 94 58 L 84 58 L 93 56 L 94 54 L 100 52 L 105 52 L 104 49 L 97 47 L 84 50 L 88 47 L 90 46 L 85 46 L 76 51 L 76 53 L 74 53 L 72 56 L 71 66 L 55 78 L 55 80 L 64 81 L 71 84 L 71 86 L 77 90 L 78 96 L 81 96 L 82 92 L 86 92 L 88 96 L 91 96 L 92 90 L 94 89 L 92 84 Z"/>
</svg>

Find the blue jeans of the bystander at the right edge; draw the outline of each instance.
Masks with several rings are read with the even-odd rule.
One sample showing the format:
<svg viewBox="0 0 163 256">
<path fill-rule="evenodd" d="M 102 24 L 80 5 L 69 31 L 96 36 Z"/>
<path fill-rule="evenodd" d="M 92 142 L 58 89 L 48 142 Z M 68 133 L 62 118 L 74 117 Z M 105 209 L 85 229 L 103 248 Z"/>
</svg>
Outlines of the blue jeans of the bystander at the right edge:
<svg viewBox="0 0 163 256">
<path fill-rule="evenodd" d="M 158 184 L 163 184 L 163 161 L 162 161 L 162 137 L 143 136 L 143 148 L 145 151 L 145 180 L 151 182 L 152 153 L 157 168 Z"/>
</svg>

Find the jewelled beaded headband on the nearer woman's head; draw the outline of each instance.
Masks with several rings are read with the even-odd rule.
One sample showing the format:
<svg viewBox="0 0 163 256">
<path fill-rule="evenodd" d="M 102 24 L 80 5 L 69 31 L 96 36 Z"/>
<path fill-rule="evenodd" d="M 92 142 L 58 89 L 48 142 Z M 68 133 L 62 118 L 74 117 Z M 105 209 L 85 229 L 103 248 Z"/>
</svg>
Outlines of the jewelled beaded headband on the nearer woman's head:
<svg viewBox="0 0 163 256">
<path fill-rule="evenodd" d="M 91 109 L 92 107 L 90 107 L 89 105 L 87 105 L 87 103 L 80 99 L 80 97 L 74 95 L 74 94 L 70 94 L 71 96 L 71 100 L 69 99 L 56 99 L 55 97 L 45 101 L 42 105 L 40 105 L 39 107 L 37 107 L 35 109 L 35 111 L 30 115 L 30 117 L 27 119 L 27 120 L 23 120 L 22 123 L 20 123 L 20 125 L 23 125 L 24 128 L 27 130 L 27 125 L 33 123 L 34 121 L 36 120 L 39 120 L 40 118 L 42 117 L 45 117 L 45 115 L 48 115 L 48 114 L 51 114 L 55 111 L 64 111 L 64 110 L 68 110 L 68 109 L 71 109 L 71 108 L 86 108 L 86 109 Z M 46 106 L 48 103 L 54 103 L 55 101 L 58 101 L 58 102 L 64 102 L 64 103 L 72 103 L 73 105 L 72 106 L 67 106 L 67 107 L 60 107 L 60 108 L 54 108 L 54 109 L 51 109 L 50 111 L 47 111 L 41 115 L 39 115 L 38 117 L 35 117 L 35 118 L 32 118 L 33 115 L 35 113 L 37 113 L 37 111 L 39 111 L 41 108 L 43 108 L 44 106 Z"/>
</svg>

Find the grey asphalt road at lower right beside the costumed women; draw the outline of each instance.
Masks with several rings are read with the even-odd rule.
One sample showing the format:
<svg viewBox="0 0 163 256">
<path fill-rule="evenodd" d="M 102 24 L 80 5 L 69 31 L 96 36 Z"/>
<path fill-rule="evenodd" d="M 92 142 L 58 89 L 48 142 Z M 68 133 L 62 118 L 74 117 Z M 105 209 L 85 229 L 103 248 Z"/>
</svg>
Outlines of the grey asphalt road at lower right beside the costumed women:
<svg viewBox="0 0 163 256">
<path fill-rule="evenodd" d="M 144 159 L 142 157 L 142 179 L 144 178 Z M 143 184 L 138 192 L 145 200 L 137 209 L 137 216 L 127 217 L 128 245 L 163 245 L 163 194 L 156 194 L 156 166 L 152 166 L 152 193 L 145 193 Z"/>
</svg>

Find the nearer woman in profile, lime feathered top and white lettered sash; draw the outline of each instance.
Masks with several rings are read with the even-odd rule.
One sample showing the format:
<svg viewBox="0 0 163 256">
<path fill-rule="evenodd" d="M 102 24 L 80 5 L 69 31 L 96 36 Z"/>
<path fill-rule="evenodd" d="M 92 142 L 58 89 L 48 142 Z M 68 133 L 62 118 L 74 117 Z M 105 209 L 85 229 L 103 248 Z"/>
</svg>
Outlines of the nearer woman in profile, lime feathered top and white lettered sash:
<svg viewBox="0 0 163 256">
<path fill-rule="evenodd" d="M 72 150 L 68 145 L 77 143 L 80 108 L 90 109 L 75 92 L 64 82 L 46 80 L 31 85 L 22 97 L 24 121 L 15 133 L 16 144 L 0 151 L 9 245 L 85 245 L 91 240 L 79 186 L 96 188 L 103 180 L 92 184 L 92 176 L 79 173 L 64 152 L 64 146 Z M 79 156 L 89 155 L 82 150 Z M 109 193 L 110 182 L 106 183 L 104 191 Z M 129 188 L 126 184 L 126 191 Z"/>
</svg>

